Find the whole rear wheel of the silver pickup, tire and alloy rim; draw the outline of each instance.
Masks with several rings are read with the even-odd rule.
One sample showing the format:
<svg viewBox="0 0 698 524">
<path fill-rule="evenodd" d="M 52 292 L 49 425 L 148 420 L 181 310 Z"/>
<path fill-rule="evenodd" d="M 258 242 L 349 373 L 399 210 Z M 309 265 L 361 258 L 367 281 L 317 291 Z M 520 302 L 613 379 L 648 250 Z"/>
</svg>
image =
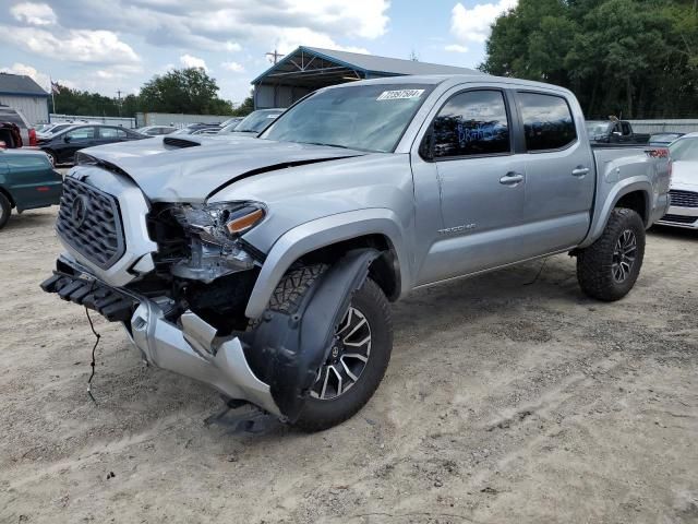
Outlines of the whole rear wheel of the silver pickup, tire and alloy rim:
<svg viewBox="0 0 698 524">
<path fill-rule="evenodd" d="M 645 258 L 645 224 L 633 210 L 613 210 L 603 235 L 577 257 L 577 281 L 592 298 L 614 301 L 637 281 Z"/>
</svg>

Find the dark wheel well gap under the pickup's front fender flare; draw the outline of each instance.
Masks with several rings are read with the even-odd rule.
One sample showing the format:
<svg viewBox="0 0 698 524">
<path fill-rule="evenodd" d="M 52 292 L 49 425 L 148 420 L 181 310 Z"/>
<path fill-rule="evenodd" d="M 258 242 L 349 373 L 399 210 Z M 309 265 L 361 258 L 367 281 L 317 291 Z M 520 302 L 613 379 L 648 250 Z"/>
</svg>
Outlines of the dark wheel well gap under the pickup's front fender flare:
<svg viewBox="0 0 698 524">
<path fill-rule="evenodd" d="M 383 289 L 388 300 L 397 300 L 400 295 L 400 270 L 393 243 L 385 235 L 364 235 L 325 246 L 305 253 L 296 263 L 333 264 L 348 251 L 361 248 L 373 248 L 383 253 L 369 267 L 369 276 Z"/>
</svg>

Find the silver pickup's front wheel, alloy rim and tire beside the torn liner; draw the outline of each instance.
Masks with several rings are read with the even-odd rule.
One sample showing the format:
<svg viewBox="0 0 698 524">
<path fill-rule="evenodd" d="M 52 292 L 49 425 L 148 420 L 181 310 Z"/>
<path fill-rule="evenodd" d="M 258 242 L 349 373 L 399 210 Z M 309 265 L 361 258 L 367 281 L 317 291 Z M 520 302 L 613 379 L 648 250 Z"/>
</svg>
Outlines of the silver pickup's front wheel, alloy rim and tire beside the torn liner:
<svg viewBox="0 0 698 524">
<path fill-rule="evenodd" d="M 352 417 L 378 388 L 392 349 L 390 307 L 377 284 L 366 278 L 337 327 L 296 426 L 322 431 Z"/>
</svg>

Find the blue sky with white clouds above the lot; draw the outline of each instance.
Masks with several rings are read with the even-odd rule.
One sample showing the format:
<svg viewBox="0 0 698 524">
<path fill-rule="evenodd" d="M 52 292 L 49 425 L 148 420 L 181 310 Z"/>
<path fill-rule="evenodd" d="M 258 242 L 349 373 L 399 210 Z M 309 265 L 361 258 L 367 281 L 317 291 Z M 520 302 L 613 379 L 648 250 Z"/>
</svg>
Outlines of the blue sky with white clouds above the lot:
<svg viewBox="0 0 698 524">
<path fill-rule="evenodd" d="M 304 45 L 474 68 L 490 25 L 517 0 L 0 0 L 0 71 L 107 96 L 201 67 L 240 103 Z"/>
</svg>

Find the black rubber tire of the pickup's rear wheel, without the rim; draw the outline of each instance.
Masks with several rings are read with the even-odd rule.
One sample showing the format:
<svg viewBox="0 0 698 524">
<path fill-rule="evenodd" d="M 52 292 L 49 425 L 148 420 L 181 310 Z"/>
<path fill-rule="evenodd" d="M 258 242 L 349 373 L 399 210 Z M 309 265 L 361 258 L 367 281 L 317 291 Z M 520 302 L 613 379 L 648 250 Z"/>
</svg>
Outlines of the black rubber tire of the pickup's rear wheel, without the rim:
<svg viewBox="0 0 698 524">
<path fill-rule="evenodd" d="M 630 230 L 637 239 L 637 254 L 623 282 L 613 276 L 613 253 L 616 242 Z M 611 213 L 601 238 L 577 254 L 577 281 L 581 290 L 598 300 L 612 302 L 625 297 L 637 281 L 645 258 L 645 224 L 637 212 L 617 207 Z"/>
</svg>

